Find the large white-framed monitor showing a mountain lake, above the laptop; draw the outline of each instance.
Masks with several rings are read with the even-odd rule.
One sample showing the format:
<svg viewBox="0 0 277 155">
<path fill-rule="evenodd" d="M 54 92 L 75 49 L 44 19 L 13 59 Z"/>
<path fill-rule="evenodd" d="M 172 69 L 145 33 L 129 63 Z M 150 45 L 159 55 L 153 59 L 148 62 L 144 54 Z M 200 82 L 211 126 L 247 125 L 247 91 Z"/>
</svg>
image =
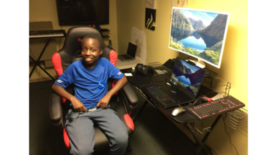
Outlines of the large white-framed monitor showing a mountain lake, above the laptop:
<svg viewBox="0 0 277 155">
<path fill-rule="evenodd" d="M 192 8 L 172 8 L 168 48 L 220 68 L 230 13 Z"/>
</svg>

